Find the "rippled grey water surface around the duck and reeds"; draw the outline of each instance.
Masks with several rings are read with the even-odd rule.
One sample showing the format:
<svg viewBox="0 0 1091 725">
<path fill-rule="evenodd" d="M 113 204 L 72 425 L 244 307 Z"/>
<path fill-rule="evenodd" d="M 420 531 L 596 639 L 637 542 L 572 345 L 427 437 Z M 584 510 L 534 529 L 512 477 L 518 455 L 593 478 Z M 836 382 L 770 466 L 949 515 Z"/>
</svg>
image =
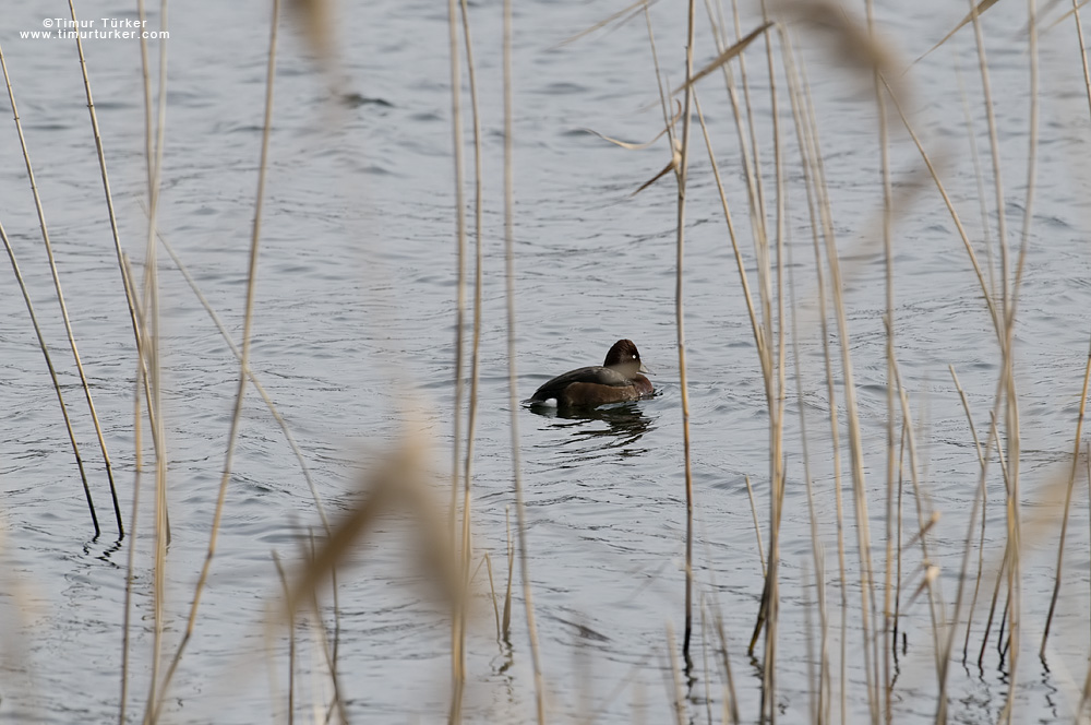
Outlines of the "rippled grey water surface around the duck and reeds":
<svg viewBox="0 0 1091 725">
<path fill-rule="evenodd" d="M 911 59 L 961 20 L 961 3 L 886 3 L 879 23 L 890 50 Z M 681 637 L 685 495 L 681 389 L 675 348 L 674 227 L 670 177 L 632 192 L 669 161 L 664 142 L 625 151 L 582 131 L 626 141 L 661 128 L 655 74 L 640 17 L 572 45 L 565 38 L 623 5 L 527 2 L 515 11 L 517 365 L 520 397 L 549 377 L 598 362 L 620 337 L 633 338 L 654 369 L 655 399 L 600 415 L 563 418 L 520 408 L 529 571 L 554 721 L 668 722 L 673 717 L 668 629 Z M 1018 3 L 1016 3 L 1018 5 Z M 1026 200 L 1029 85 L 1024 11 L 1000 3 L 985 19 L 1006 185 L 1009 240 L 1019 239 Z M 853 8 L 853 11 L 856 9 Z M 132 17 L 129 5 L 86 2 L 81 17 Z M 1054 11 L 1056 13 L 1057 11 Z M 80 352 L 91 379 L 127 521 L 135 468 L 132 418 L 136 356 L 74 43 L 31 40 L 47 14 L 7 3 L 0 43 L 12 75 L 46 219 Z M 475 454 L 478 554 L 493 558 L 503 586 L 505 515 L 514 503 L 507 406 L 502 257 L 502 95 L 496 2 L 471 8 L 484 139 L 484 284 Z M 652 11 L 658 49 L 672 83 L 683 76 L 685 13 Z M 247 250 L 253 218 L 265 90 L 269 12 L 262 2 L 191 2 L 169 17 L 168 94 L 158 226 L 224 318 L 242 330 Z M 743 25 L 757 24 L 744 9 Z M 158 26 L 157 15 L 152 26 Z M 368 461 L 399 440 L 407 411 L 423 418 L 437 479 L 447 479 L 453 432 L 456 305 L 446 11 L 442 3 L 374 2 L 338 8 L 336 93 L 304 48 L 296 21 L 280 36 L 272 159 L 263 218 L 252 368 L 302 448 L 327 508 L 353 504 Z M 715 48 L 698 24 L 696 63 Z M 804 33 L 804 35 L 807 35 Z M 1070 465 L 1079 387 L 1088 349 L 1091 263 L 1088 219 L 1088 110 L 1075 29 L 1041 44 L 1038 187 L 1019 297 L 1017 377 L 1021 393 L 1021 496 L 1026 515 L 1045 512 Z M 122 243 L 143 259 L 146 161 L 139 44 L 84 43 Z M 844 292 L 864 442 L 875 556 L 883 557 L 886 487 L 885 286 L 878 141 L 868 75 L 838 66 L 808 40 L 803 55 L 832 194 L 846 269 Z M 157 54 L 157 46 L 153 45 Z M 772 176 L 771 111 L 764 56 L 747 56 L 763 143 Z M 916 130 L 984 254 L 984 231 L 962 95 L 961 68 L 983 174 L 992 178 L 980 76 L 969 28 L 913 68 Z M 781 79 L 782 82 L 782 79 Z M 751 283 L 753 253 L 738 135 L 722 82 L 702 100 L 724 174 Z M 345 97 L 348 96 L 348 102 Z M 341 100 L 338 100 L 341 98 Z M 468 98 L 464 98 L 468 108 Z M 787 98 L 781 120 L 791 135 Z M 10 117 L 7 100 L 0 110 Z M 892 124 L 899 189 L 920 157 Z M 107 722 L 120 696 L 121 621 L 128 547 L 136 571 L 130 718 L 143 713 L 152 671 L 152 509 L 144 477 L 136 536 L 116 540 L 101 456 L 81 401 L 45 261 L 37 218 L 11 123 L 0 142 L 0 222 L 12 239 L 77 431 L 104 534 L 92 538 L 79 475 L 41 353 L 10 274 L 0 295 L 0 717 L 5 722 Z M 696 129 L 696 127 L 695 127 Z M 467 139 L 470 127 L 467 121 Z M 707 611 L 723 617 L 740 709 L 756 722 L 760 667 L 745 655 L 762 594 L 745 477 L 755 489 L 768 546 L 768 419 L 753 334 L 707 156 L 695 145 L 686 227 L 685 324 L 696 497 L 695 578 Z M 816 516 L 831 603 L 835 673 L 839 596 L 836 511 L 814 257 L 798 153 L 784 146 L 791 261 L 800 314 L 802 401 L 789 378 L 786 449 L 789 489 L 782 532 L 782 613 L 777 705 L 781 722 L 812 720 L 817 610 L 811 528 L 803 487 L 799 408 L 816 487 Z M 986 187 L 995 255 L 995 198 Z M 468 197 L 468 199 L 471 199 Z M 987 310 L 950 216 L 931 186 L 912 195 L 895 227 L 895 326 L 911 396 L 922 483 L 942 513 L 930 532 L 942 598 L 955 599 L 978 462 L 947 366 L 959 372 L 980 436 L 999 375 Z M 771 212 L 770 212 L 771 214 Z M 993 264 L 998 269 L 996 260 Z M 7 273 L 5 273 L 7 274 Z M 137 275 L 140 271 L 137 269 Z M 166 650 L 184 629 L 215 508 L 238 366 L 181 275 L 160 252 L 164 403 L 169 450 L 172 543 L 167 562 Z M 791 359 L 791 358 L 789 358 Z M 789 362 L 791 368 L 791 362 Z M 839 366 L 838 366 L 839 370 Z M 840 372 L 837 372 L 840 380 Z M 838 391 L 839 401 L 843 392 Z M 844 429 L 842 421 L 842 441 Z M 143 443 L 148 445 L 143 432 Z M 145 462 L 148 460 L 145 454 Z M 843 454 L 847 467 L 847 452 Z M 987 561 L 995 574 L 1004 542 L 1003 483 L 991 467 Z M 1071 717 L 1088 657 L 1087 494 L 1069 527 L 1065 589 L 1045 662 L 1040 633 L 1053 584 L 1059 523 L 1028 536 L 1023 638 L 1015 722 Z M 846 480 L 846 495 L 850 491 Z M 441 492 L 441 500 L 447 494 Z M 514 512 L 512 513 L 514 519 Z M 851 519 L 851 511 L 847 512 Z M 1050 518 L 1053 519 L 1050 519 Z M 916 516 L 907 492 L 904 526 Z M 263 403 L 248 392 L 216 560 L 193 640 L 168 694 L 165 718 L 180 723 L 285 722 L 288 638 L 266 625 L 279 596 L 273 552 L 298 561 L 319 530 L 310 491 Z M 339 674 L 355 722 L 434 722 L 449 699 L 449 628 L 442 606 L 408 560 L 407 534 L 381 526 L 339 577 Z M 855 530 L 850 581 L 856 581 Z M 906 534 L 908 540 L 910 534 Z M 906 598 L 920 584 L 919 549 L 907 547 Z M 469 649 L 465 712 L 473 722 L 528 722 L 533 681 L 521 593 L 511 649 L 497 644 L 491 605 L 480 609 Z M 852 602 L 853 590 L 850 590 Z M 987 594 L 982 595 L 987 598 Z M 848 717 L 867 715 L 859 657 L 859 596 L 848 633 Z M 332 622 L 326 603 L 324 614 Z M 896 716 L 932 722 L 936 700 L 926 597 L 906 604 L 906 649 L 897 662 Z M 971 650 L 980 646 L 982 605 Z M 958 641 L 961 641 L 961 629 Z M 328 680 L 312 627 L 300 630 L 297 703 L 328 702 Z M 690 716 L 720 716 L 724 690 L 715 638 L 697 631 Z M 961 652 L 961 646 L 956 647 Z M 706 664 L 706 656 L 708 661 Z M 1011 673 L 995 634 L 979 669 L 952 663 L 952 718 L 995 722 Z M 971 661 L 976 656 L 972 655 Z M 271 685 L 275 681 L 275 686 Z M 325 688 L 325 689 L 324 689 Z M 838 686 L 835 682 L 835 692 Z M 835 699 L 837 696 L 835 694 Z M 835 705 L 835 715 L 839 711 Z M 312 713 L 299 710 L 300 716 Z"/>
</svg>

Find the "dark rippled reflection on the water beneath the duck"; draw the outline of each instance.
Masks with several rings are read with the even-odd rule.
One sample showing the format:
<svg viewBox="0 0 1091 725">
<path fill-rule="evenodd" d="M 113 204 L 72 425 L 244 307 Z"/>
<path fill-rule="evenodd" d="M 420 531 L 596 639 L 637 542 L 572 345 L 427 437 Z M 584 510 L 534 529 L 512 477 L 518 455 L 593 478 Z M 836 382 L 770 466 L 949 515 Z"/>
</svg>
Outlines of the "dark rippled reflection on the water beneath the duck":
<svg viewBox="0 0 1091 725">
<path fill-rule="evenodd" d="M 552 418 L 550 428 L 564 429 L 572 437 L 563 445 L 576 445 L 587 453 L 585 443 L 594 443 L 592 451 L 616 451 L 619 455 L 640 455 L 646 448 L 633 448 L 648 431 L 655 430 L 655 418 L 650 418 L 636 402 L 616 403 L 597 408 L 564 409 L 535 406 L 530 408 L 543 418 Z M 602 425 L 606 424 L 606 425 Z"/>
</svg>

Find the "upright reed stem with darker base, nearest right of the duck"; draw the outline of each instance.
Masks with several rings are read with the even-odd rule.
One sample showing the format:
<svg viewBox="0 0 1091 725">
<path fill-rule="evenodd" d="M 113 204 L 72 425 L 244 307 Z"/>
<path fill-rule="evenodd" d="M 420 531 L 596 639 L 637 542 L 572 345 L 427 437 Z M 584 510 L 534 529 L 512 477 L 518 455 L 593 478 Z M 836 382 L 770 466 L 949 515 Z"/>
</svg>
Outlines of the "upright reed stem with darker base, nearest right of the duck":
<svg viewBox="0 0 1091 725">
<path fill-rule="evenodd" d="M 692 667 L 690 657 L 690 640 L 693 634 L 693 471 L 690 457 L 690 389 L 686 384 L 685 368 L 685 324 L 682 304 L 682 261 L 685 247 L 685 193 L 686 174 L 690 168 L 690 129 L 692 127 L 691 108 L 693 106 L 693 37 L 694 37 L 694 0 L 688 5 L 688 31 L 685 46 L 685 80 L 686 90 L 682 102 L 682 150 L 675 171 L 678 180 L 678 228 L 675 229 L 675 275 L 674 275 L 674 324 L 678 331 L 679 346 L 679 385 L 682 389 L 682 444 L 685 456 L 685 631 L 682 638 L 682 656 L 686 668 Z M 673 664 L 673 655 L 671 663 Z"/>
</svg>

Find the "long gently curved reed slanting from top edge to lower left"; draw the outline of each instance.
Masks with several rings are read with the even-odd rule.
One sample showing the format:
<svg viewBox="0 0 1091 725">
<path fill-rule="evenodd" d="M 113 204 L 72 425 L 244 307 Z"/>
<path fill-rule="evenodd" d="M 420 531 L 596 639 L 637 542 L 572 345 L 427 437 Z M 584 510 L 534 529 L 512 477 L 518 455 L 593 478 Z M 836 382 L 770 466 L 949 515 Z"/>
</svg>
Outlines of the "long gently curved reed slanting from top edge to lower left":
<svg viewBox="0 0 1091 725">
<path fill-rule="evenodd" d="M 261 242 L 262 210 L 264 207 L 265 179 L 268 170 L 269 136 L 273 131 L 273 87 L 276 79 L 277 26 L 279 25 L 279 21 L 280 0 L 273 0 L 273 17 L 271 20 L 269 27 L 269 51 L 265 78 L 265 111 L 262 122 L 261 161 L 257 168 L 257 190 L 254 200 L 254 221 L 250 237 L 250 259 L 247 270 L 247 298 L 242 320 L 242 356 L 239 361 L 239 382 L 235 395 L 235 408 L 231 412 L 231 426 L 228 431 L 227 450 L 224 455 L 224 472 L 220 477 L 219 490 L 216 496 L 216 510 L 213 514 L 212 532 L 208 536 L 208 550 L 205 555 L 204 564 L 201 568 L 201 575 L 197 579 L 196 586 L 194 586 L 193 602 L 190 605 L 190 614 L 185 622 L 185 633 L 182 635 L 182 640 L 178 644 L 178 650 L 175 652 L 175 656 L 171 658 L 170 666 L 164 676 L 161 686 L 159 687 L 159 694 L 157 697 L 155 716 L 153 717 L 153 721 L 158 721 L 159 718 L 159 713 L 161 712 L 165 696 L 170 686 L 171 678 L 178 669 L 178 664 L 181 662 L 182 654 L 185 652 L 185 645 L 193 637 L 193 629 L 196 625 L 197 609 L 201 605 L 201 595 L 204 592 L 204 585 L 208 580 L 212 561 L 216 555 L 216 540 L 219 535 L 219 524 L 224 515 L 227 486 L 231 480 L 235 445 L 238 441 L 239 429 L 242 424 L 242 401 L 247 392 L 247 371 L 250 369 L 251 330 L 253 328 L 254 319 L 254 296 L 257 288 L 257 252 Z"/>
</svg>

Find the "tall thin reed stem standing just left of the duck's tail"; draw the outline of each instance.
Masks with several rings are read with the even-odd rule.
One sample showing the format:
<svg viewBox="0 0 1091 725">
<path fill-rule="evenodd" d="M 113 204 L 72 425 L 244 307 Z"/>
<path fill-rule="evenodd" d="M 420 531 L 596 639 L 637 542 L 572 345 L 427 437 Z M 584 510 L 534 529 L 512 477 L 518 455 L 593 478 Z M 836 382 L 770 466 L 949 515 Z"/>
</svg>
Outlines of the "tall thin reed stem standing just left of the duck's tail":
<svg viewBox="0 0 1091 725">
<path fill-rule="evenodd" d="M 515 364 L 515 176 L 513 142 L 513 81 L 512 81 L 512 0 L 504 0 L 504 298 L 507 307 L 507 407 L 512 430 L 512 486 L 515 489 L 515 518 L 519 542 L 519 575 L 523 579 L 523 602 L 527 614 L 527 635 L 530 640 L 530 662 L 535 673 L 535 710 L 538 725 L 546 723 L 546 678 L 542 674 L 541 652 L 538 646 L 538 626 L 535 622 L 535 603 L 530 586 L 530 564 L 527 561 L 527 521 L 523 504 L 523 473 L 519 462 L 519 404 L 518 376 Z M 508 527 L 508 540 L 511 528 Z M 511 546 L 511 545 L 509 545 Z M 514 551 L 512 552 L 514 554 Z M 504 635 L 507 637 L 512 601 L 512 564 L 508 555 L 507 596 L 504 603 Z"/>
</svg>

